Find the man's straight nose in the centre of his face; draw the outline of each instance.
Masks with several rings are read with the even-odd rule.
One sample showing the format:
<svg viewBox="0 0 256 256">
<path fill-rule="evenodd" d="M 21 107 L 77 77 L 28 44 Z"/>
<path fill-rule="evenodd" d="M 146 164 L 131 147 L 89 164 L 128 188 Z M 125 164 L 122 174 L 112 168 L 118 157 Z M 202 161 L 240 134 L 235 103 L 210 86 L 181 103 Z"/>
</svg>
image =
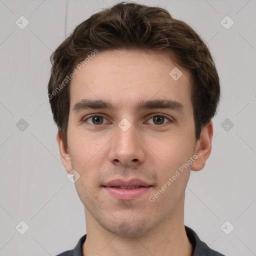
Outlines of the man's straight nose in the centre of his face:
<svg viewBox="0 0 256 256">
<path fill-rule="evenodd" d="M 116 166 L 134 167 L 145 160 L 145 145 L 134 125 L 126 131 L 117 126 L 109 143 L 109 161 Z"/>
</svg>

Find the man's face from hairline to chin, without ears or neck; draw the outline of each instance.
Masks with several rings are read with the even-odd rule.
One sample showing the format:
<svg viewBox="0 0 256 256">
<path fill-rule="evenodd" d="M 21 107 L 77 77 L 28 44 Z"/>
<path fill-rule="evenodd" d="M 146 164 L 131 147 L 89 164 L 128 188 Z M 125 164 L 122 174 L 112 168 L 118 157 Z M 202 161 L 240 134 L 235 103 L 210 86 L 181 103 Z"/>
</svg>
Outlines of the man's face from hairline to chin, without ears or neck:
<svg viewBox="0 0 256 256">
<path fill-rule="evenodd" d="M 99 51 L 71 80 L 65 167 L 80 175 L 86 219 L 112 233 L 139 235 L 183 218 L 191 166 L 167 181 L 198 147 L 189 74 L 178 67 L 175 80 L 174 67 L 163 52 Z M 113 108 L 86 108 L 90 101 Z"/>
</svg>

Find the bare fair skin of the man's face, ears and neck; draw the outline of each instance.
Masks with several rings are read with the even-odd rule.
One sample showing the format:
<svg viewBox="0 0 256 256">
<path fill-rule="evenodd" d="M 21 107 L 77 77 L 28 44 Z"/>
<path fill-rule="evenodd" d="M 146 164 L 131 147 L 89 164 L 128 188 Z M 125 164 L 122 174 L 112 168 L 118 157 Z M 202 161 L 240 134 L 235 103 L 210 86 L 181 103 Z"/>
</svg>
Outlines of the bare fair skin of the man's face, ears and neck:
<svg viewBox="0 0 256 256">
<path fill-rule="evenodd" d="M 175 81 L 169 72 L 176 66 L 183 74 Z M 213 129 L 209 121 L 195 139 L 189 80 L 188 71 L 166 53 L 138 49 L 99 51 L 72 78 L 67 148 L 59 132 L 57 142 L 66 171 L 80 175 L 74 184 L 85 207 L 83 255 L 191 255 L 184 229 L 185 187 L 190 170 L 205 165 Z M 83 98 L 108 100 L 117 108 L 73 111 Z M 175 100 L 183 110 L 134 109 L 137 102 L 153 99 Z M 102 116 L 103 123 L 86 119 L 90 114 Z M 162 124 L 153 118 L 159 120 L 159 114 L 167 117 L 160 118 Z M 131 124 L 126 131 L 118 126 L 123 118 Z M 200 156 L 149 201 L 197 151 Z M 114 178 L 139 178 L 152 186 L 136 199 L 121 200 L 101 186 Z"/>
</svg>

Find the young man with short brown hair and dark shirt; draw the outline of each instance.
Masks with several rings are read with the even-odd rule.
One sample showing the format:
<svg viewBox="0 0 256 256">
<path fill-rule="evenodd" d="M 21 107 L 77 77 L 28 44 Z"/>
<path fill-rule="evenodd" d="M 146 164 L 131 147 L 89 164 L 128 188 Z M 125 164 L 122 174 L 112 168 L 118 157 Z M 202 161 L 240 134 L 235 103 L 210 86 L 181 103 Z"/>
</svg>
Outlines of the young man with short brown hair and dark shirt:
<svg viewBox="0 0 256 256">
<path fill-rule="evenodd" d="M 51 60 L 60 157 L 86 220 L 59 256 L 222 255 L 183 217 L 220 93 L 200 37 L 162 8 L 122 2 L 79 24 Z"/>
</svg>

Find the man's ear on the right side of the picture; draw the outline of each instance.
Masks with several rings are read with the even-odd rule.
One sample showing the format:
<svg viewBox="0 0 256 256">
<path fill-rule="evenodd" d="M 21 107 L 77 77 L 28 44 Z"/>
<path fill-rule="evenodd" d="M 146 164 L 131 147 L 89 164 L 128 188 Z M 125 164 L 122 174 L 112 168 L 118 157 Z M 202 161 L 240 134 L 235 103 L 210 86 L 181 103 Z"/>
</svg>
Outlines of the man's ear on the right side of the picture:
<svg viewBox="0 0 256 256">
<path fill-rule="evenodd" d="M 194 154 L 197 158 L 191 164 L 191 170 L 201 170 L 211 151 L 211 139 L 213 135 L 212 120 L 210 120 L 205 126 L 203 126 L 200 138 L 196 141 L 194 147 Z"/>
</svg>

